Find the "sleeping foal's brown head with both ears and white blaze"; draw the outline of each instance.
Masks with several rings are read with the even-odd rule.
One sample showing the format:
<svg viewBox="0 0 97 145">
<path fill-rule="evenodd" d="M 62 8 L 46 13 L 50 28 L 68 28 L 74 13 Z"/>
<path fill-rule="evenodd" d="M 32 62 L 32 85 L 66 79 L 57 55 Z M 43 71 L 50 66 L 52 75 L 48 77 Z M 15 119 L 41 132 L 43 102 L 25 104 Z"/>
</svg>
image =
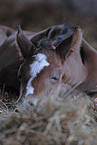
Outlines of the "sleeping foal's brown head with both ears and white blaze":
<svg viewBox="0 0 97 145">
<path fill-rule="evenodd" d="M 66 73 L 64 63 L 69 56 L 72 56 L 72 53 L 77 53 L 77 48 L 74 47 L 80 45 L 78 40 L 80 39 L 80 33 L 80 28 L 76 28 L 74 34 L 67 39 L 62 39 L 62 42 L 56 48 L 47 38 L 41 39 L 36 47 L 19 28 L 17 43 L 19 54 L 24 60 L 19 69 L 21 96 L 47 95 L 62 83 L 65 77 L 65 79 L 68 79 L 67 76 L 64 76 Z M 78 53 L 78 55 L 80 54 Z M 80 56 L 77 58 L 79 65 L 83 67 Z"/>
</svg>

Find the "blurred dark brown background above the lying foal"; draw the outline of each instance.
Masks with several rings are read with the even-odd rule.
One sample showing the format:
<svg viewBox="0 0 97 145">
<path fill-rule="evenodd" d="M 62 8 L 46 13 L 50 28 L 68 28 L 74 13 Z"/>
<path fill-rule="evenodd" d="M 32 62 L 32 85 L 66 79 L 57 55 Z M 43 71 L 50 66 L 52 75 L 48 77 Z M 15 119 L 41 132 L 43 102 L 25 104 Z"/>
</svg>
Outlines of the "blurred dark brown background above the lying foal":
<svg viewBox="0 0 97 145">
<path fill-rule="evenodd" d="M 97 48 L 97 0 L 0 0 L 0 25 L 37 32 L 65 21 Z"/>
</svg>

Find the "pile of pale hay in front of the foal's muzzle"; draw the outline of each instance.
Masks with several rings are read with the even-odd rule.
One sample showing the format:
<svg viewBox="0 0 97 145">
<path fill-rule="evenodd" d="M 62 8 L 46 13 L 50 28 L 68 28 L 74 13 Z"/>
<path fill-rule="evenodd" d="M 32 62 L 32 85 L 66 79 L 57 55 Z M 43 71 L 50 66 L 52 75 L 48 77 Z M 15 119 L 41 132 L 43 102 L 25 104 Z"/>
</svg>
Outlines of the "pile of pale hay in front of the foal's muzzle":
<svg viewBox="0 0 97 145">
<path fill-rule="evenodd" d="M 0 145 L 96 145 L 97 100 L 74 91 L 2 108 Z"/>
</svg>

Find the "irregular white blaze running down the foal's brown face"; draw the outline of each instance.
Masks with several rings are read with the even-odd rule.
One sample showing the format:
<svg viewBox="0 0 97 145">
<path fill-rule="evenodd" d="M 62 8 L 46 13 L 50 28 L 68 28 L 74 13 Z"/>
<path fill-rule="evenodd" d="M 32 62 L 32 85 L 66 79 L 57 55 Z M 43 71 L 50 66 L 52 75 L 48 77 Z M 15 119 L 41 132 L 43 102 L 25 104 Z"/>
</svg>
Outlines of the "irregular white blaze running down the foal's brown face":
<svg viewBox="0 0 97 145">
<path fill-rule="evenodd" d="M 47 62 L 47 57 L 45 54 L 38 53 L 37 55 L 34 55 L 32 57 L 35 57 L 35 61 L 30 65 L 30 75 L 31 78 L 27 83 L 26 87 L 26 97 L 30 94 L 34 93 L 34 88 L 31 85 L 32 80 L 39 74 L 45 66 L 49 66 L 50 64 Z"/>
</svg>

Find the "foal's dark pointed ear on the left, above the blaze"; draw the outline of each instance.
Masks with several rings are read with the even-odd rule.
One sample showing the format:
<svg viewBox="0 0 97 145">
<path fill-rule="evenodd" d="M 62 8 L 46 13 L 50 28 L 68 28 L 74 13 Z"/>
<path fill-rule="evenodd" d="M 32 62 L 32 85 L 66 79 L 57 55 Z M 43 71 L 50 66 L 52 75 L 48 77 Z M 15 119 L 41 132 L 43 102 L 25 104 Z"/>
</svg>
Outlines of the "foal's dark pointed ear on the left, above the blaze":
<svg viewBox="0 0 97 145">
<path fill-rule="evenodd" d="M 32 42 L 25 37 L 20 26 L 18 26 L 17 44 L 19 46 L 20 55 L 22 54 L 24 58 L 27 58 L 30 52 L 33 52 L 35 49 Z"/>
</svg>

